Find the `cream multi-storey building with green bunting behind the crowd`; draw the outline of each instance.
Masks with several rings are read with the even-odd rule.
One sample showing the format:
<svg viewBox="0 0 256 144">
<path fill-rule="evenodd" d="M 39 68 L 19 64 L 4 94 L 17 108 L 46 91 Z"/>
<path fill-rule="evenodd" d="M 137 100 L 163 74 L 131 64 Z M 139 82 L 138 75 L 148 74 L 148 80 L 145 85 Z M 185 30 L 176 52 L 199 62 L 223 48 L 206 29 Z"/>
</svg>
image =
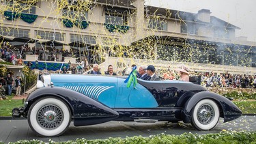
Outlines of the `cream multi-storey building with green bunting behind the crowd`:
<svg viewBox="0 0 256 144">
<path fill-rule="evenodd" d="M 256 74 L 255 42 L 235 38 L 240 28 L 211 16 L 210 10 L 167 10 L 144 5 L 143 0 L 0 3 L 0 35 L 8 38 L 84 42 L 98 46 L 95 53 L 102 57 L 109 52 L 128 57 L 126 66 L 152 59 L 147 62 L 159 68 L 186 63 L 197 71 Z M 105 65 L 117 68 L 120 61 L 115 57 Z"/>
</svg>

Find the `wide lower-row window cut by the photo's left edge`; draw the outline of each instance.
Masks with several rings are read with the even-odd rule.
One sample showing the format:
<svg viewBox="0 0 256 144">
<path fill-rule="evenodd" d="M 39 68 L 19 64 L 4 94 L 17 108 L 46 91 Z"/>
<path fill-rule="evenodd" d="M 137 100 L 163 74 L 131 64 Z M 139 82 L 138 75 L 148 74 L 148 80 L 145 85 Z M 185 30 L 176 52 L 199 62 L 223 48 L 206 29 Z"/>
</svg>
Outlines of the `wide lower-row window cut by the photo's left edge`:
<svg viewBox="0 0 256 144">
<path fill-rule="evenodd" d="M 29 30 L 27 29 L 14 29 L 8 27 L 1 27 L 1 35 L 13 37 L 27 37 L 29 38 Z"/>
</svg>

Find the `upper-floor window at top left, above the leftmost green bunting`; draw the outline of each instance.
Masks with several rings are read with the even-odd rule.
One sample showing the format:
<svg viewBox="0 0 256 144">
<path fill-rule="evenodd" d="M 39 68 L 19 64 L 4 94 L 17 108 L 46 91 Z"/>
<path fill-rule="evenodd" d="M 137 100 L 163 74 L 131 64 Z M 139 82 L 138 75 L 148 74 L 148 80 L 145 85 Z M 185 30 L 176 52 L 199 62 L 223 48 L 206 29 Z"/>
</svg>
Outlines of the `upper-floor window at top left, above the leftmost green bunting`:
<svg viewBox="0 0 256 144">
<path fill-rule="evenodd" d="M 20 3 L 18 1 L 8 1 L 7 5 L 11 7 L 10 11 L 22 12 L 26 14 L 35 14 L 35 5 Z"/>
</svg>

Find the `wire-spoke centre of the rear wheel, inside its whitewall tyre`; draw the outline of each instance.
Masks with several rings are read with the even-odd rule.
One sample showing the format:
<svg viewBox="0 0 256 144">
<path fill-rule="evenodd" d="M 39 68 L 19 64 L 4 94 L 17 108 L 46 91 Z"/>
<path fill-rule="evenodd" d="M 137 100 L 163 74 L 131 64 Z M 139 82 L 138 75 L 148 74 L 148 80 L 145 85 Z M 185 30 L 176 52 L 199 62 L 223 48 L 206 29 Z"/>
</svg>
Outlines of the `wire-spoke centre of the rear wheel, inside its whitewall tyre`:
<svg viewBox="0 0 256 144">
<path fill-rule="evenodd" d="M 201 124 L 210 124 L 214 116 L 214 109 L 210 104 L 203 104 L 197 110 L 197 119 Z"/>
</svg>

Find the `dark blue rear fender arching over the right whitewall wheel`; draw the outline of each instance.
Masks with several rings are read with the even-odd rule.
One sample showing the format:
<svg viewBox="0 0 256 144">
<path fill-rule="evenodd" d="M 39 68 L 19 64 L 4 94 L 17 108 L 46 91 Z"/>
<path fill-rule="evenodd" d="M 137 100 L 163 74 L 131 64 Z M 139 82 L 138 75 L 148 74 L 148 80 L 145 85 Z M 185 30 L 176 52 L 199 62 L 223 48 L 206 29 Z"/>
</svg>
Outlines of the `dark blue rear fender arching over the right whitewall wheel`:
<svg viewBox="0 0 256 144">
<path fill-rule="evenodd" d="M 242 115 L 242 111 L 236 106 L 236 104 L 233 104 L 229 99 L 225 98 L 224 96 L 218 95 L 217 93 L 212 93 L 210 91 L 203 91 L 196 93 L 194 96 L 190 97 L 186 104 L 184 104 L 184 109 L 182 110 L 182 119 L 184 123 L 190 123 L 192 112 L 194 106 L 203 99 L 211 99 L 218 104 L 218 107 L 220 109 L 221 117 L 224 118 L 224 122 L 231 121 L 233 119 L 236 119 Z"/>
</svg>

